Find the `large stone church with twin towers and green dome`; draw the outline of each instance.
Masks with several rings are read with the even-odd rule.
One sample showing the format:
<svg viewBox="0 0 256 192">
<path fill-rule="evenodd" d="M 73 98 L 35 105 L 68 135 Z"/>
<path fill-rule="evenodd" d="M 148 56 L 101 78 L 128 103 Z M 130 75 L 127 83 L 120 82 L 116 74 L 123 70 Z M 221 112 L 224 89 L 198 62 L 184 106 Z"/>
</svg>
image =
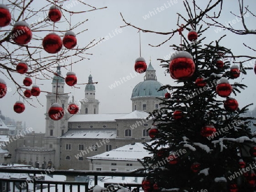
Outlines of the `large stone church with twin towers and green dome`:
<svg viewBox="0 0 256 192">
<path fill-rule="evenodd" d="M 64 84 L 58 67 L 52 80 L 52 93 L 46 95 L 46 133 L 43 139 L 35 139 L 36 133 L 32 133 L 34 136 L 27 134 L 17 140 L 19 144 L 10 147 L 13 151 L 15 149 L 14 162 L 31 162 L 33 166 L 35 163 L 36 166 L 47 164 L 47 167 L 55 169 L 89 170 L 90 160 L 86 157 L 127 144 L 150 141 L 148 129 L 152 120 L 147 119 L 148 112 L 160 107 L 158 98 L 164 98 L 167 92 L 158 91 L 162 84 L 157 81 L 150 62 L 144 81 L 139 82 L 131 94 L 132 111 L 124 114 L 99 114 L 100 102 L 96 99 L 96 87 L 89 75 L 85 98 L 80 101 L 80 112 L 71 116 L 66 111 L 61 120 L 53 121 L 48 116 L 52 103 L 57 102 L 63 108 L 67 108 L 70 103 L 68 94 L 64 92 Z M 109 170 L 113 169 L 114 165 L 110 165 Z"/>
</svg>

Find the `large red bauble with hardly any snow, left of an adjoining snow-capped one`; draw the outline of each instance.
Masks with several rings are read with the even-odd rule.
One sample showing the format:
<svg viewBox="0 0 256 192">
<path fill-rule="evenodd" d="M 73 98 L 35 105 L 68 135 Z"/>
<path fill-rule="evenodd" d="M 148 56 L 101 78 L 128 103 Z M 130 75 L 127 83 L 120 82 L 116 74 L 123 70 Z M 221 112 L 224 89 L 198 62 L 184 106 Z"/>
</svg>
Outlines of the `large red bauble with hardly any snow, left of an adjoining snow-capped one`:
<svg viewBox="0 0 256 192">
<path fill-rule="evenodd" d="M 62 48 L 60 36 L 54 32 L 46 35 L 43 39 L 43 48 L 47 53 L 57 53 Z"/>
</svg>

